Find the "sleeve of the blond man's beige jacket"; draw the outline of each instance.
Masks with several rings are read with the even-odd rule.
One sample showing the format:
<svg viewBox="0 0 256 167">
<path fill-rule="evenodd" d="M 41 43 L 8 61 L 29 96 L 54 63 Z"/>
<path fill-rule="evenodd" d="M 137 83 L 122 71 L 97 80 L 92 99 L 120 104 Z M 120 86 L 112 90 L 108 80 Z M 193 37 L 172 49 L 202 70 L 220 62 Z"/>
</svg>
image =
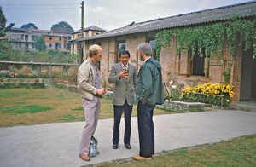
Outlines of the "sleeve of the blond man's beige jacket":
<svg viewBox="0 0 256 167">
<path fill-rule="evenodd" d="M 89 83 L 90 67 L 80 66 L 78 72 L 78 87 L 84 91 L 96 95 L 97 89 Z"/>
</svg>

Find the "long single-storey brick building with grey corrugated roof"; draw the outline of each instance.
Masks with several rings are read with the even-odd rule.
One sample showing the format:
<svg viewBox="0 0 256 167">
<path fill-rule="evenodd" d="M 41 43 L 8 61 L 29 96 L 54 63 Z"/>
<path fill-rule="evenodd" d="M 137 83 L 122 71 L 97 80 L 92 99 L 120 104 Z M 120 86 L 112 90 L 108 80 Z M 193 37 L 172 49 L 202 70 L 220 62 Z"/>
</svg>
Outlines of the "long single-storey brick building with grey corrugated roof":
<svg viewBox="0 0 256 167">
<path fill-rule="evenodd" d="M 239 15 L 241 19 L 255 19 L 256 2 L 238 3 L 140 23 L 133 22 L 128 26 L 93 37 L 84 37 L 76 40 L 76 42 L 82 44 L 84 58 L 87 58 L 86 53 L 91 44 L 97 43 L 102 46 L 101 72 L 103 80 L 106 81 L 111 66 L 119 61 L 119 49 L 129 50 L 131 63 L 134 63 L 139 69 L 143 62 L 139 60 L 137 45 L 149 42 L 154 51 L 154 37 L 157 32 L 166 28 L 183 28 L 229 21 L 234 15 Z M 175 80 L 177 84 L 184 84 L 185 86 L 193 82 L 224 83 L 224 60 L 228 60 L 232 64 L 229 82 L 235 86 L 233 101 L 256 99 L 256 61 L 253 60 L 253 49 L 245 52 L 238 47 L 236 56 L 233 57 L 230 54 L 229 43 L 226 42 L 223 46 L 224 60 L 218 61 L 218 55 L 214 55 L 213 59 L 201 58 L 199 55 L 195 55 L 194 60 L 190 60 L 190 54 L 186 50 L 183 50 L 181 55 L 177 55 L 176 46 L 176 39 L 172 37 L 171 47 L 163 48 L 160 52 L 160 64 L 163 67 L 166 81 Z M 106 86 L 110 87 L 111 85 L 106 83 Z"/>
</svg>

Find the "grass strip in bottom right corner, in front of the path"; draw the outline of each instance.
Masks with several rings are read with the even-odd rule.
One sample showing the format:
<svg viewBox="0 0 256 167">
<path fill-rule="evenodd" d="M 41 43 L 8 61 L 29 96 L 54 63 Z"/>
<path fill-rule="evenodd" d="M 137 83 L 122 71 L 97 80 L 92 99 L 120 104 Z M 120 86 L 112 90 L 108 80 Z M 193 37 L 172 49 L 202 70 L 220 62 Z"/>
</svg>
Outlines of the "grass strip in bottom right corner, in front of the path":
<svg viewBox="0 0 256 167">
<path fill-rule="evenodd" d="M 128 160 L 125 163 L 104 164 L 97 166 L 111 167 L 148 167 L 148 166 L 256 166 L 256 135 L 248 135 L 207 144 L 183 148 L 176 151 L 162 152 L 147 162 Z"/>
</svg>

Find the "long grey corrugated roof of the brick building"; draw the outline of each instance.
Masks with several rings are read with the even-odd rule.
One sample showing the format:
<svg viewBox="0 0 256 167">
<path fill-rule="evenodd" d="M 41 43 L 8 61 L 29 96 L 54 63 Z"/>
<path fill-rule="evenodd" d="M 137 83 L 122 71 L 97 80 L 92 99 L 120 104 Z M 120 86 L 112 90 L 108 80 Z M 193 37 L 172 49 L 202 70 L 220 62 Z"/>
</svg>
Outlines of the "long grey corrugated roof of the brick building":
<svg viewBox="0 0 256 167">
<path fill-rule="evenodd" d="M 171 17 L 160 18 L 156 20 L 148 20 L 139 23 L 131 23 L 112 31 L 98 34 L 93 37 L 84 37 L 78 41 L 87 41 L 91 39 L 99 39 L 104 37 L 115 37 L 126 34 L 157 31 L 166 28 L 174 28 L 181 26 L 193 26 L 216 21 L 230 20 L 234 15 L 240 18 L 256 16 L 256 1 L 247 3 L 237 3 L 229 6 L 219 7 L 215 9 L 206 9 L 188 14 L 179 14 Z"/>
</svg>

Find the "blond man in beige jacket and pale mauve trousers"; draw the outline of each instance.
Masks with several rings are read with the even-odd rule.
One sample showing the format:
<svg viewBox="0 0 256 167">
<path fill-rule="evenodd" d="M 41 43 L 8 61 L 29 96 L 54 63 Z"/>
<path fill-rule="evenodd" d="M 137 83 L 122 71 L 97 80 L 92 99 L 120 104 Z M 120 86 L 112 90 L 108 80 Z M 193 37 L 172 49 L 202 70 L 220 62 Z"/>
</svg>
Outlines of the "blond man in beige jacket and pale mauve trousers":
<svg viewBox="0 0 256 167">
<path fill-rule="evenodd" d="M 79 148 L 79 157 L 90 161 L 90 137 L 94 135 L 101 107 L 100 96 L 107 92 L 102 88 L 101 76 L 96 63 L 102 59 L 102 48 L 91 45 L 88 51 L 89 58 L 79 66 L 78 89 L 82 96 L 84 107 L 85 126 Z"/>
</svg>

